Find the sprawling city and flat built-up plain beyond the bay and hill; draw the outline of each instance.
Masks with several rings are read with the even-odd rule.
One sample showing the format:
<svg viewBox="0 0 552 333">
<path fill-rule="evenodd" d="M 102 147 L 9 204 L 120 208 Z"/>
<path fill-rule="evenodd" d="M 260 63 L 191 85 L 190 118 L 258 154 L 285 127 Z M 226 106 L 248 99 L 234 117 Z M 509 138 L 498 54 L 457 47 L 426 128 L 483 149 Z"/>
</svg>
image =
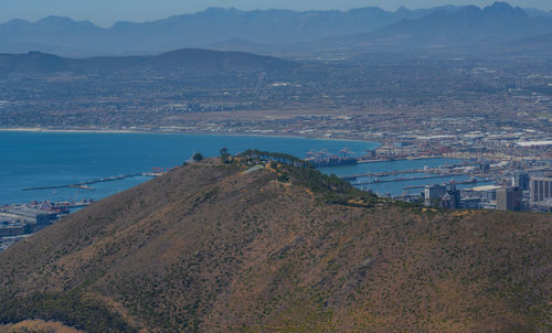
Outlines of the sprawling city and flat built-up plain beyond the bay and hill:
<svg viewBox="0 0 552 333">
<path fill-rule="evenodd" d="M 3 129 L 375 141 L 381 146 L 373 151 L 309 158 L 319 166 L 332 159 L 336 165 L 457 159 L 463 162 L 343 179 L 363 187 L 425 178 L 426 185 L 393 197 L 436 208 L 552 212 L 549 62 L 369 57 L 209 77 L 178 71 L 12 75 L 0 79 L 0 93 Z M 443 182 L 447 176 L 467 180 Z M 0 248 L 65 213 L 51 203 L 0 207 Z"/>
</svg>

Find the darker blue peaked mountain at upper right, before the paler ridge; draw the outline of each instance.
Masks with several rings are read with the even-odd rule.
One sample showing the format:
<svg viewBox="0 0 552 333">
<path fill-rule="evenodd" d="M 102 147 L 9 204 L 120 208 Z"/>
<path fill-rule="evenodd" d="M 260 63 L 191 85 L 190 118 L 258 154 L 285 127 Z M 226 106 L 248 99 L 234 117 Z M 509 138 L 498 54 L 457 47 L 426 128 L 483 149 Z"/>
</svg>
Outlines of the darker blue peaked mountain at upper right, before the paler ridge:
<svg viewBox="0 0 552 333">
<path fill-rule="evenodd" d="M 480 9 L 464 7 L 455 11 L 437 10 L 415 20 L 402 20 L 376 31 L 339 39 L 317 41 L 311 49 L 359 51 L 447 51 L 499 47 L 501 52 L 531 52 L 520 50 L 517 41 L 534 39 L 552 32 L 552 18 L 531 17 L 521 8 L 495 2 Z M 489 47 L 491 46 L 491 47 Z M 513 49 L 509 49 L 513 47 Z M 461 47 L 460 47 L 461 50 Z"/>
</svg>

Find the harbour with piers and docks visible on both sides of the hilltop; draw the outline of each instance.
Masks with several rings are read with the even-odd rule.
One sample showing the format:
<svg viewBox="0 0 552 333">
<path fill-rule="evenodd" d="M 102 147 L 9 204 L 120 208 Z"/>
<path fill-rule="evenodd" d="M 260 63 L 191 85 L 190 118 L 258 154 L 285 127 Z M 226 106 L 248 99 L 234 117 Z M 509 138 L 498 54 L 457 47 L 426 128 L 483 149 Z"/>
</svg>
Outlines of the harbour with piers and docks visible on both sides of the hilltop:
<svg viewBox="0 0 552 333">
<path fill-rule="evenodd" d="M 395 159 L 375 157 L 371 150 L 364 150 L 364 153 L 359 155 L 348 147 L 335 149 L 333 152 L 326 148 L 311 149 L 304 155 L 306 161 L 321 172 L 337 174 L 354 186 L 381 197 L 426 205 L 428 200 L 429 203 L 438 200 L 439 205 L 453 208 L 496 208 L 497 191 L 501 189 L 500 184 L 510 172 L 509 163 L 505 162 L 492 164 L 479 160 L 444 158 Z M 531 168 L 527 168 L 518 163 L 517 166 L 523 166 L 531 172 L 541 172 L 545 170 L 545 165 L 541 164 L 532 163 Z M 102 191 L 95 198 L 100 200 L 163 175 L 172 169 L 151 168 L 149 172 L 128 172 L 74 183 L 20 189 L 21 192 L 41 193 L 43 196 L 62 200 L 0 206 L 0 217 L 3 221 L 0 228 L 0 250 L 63 216 L 93 204 L 95 200 L 83 197 L 95 194 L 97 190 Z M 524 201 L 527 202 L 527 197 Z"/>
</svg>

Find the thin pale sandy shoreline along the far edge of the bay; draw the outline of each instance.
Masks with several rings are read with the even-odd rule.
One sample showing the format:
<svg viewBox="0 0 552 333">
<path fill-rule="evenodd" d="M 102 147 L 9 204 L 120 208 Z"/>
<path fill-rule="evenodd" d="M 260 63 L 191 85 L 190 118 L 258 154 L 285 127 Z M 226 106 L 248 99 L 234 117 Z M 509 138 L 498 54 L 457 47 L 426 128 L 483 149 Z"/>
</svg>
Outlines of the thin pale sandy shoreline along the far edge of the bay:
<svg viewBox="0 0 552 333">
<path fill-rule="evenodd" d="M 0 128 L 0 132 L 29 132 L 29 133 L 104 133 L 104 135 L 184 135 L 184 136 L 233 136 L 233 137 L 262 137 L 262 138 L 291 138 L 291 139 L 307 139 L 307 140 L 328 140 L 328 141 L 351 141 L 351 142 L 367 142 L 383 146 L 382 142 L 361 140 L 361 139 L 347 139 L 347 138 L 327 138 L 327 137 L 309 137 L 299 135 L 264 135 L 264 133 L 221 133 L 221 132 L 201 132 L 201 131 L 155 131 L 155 130 L 95 130 L 95 129 L 44 129 L 34 127 L 21 128 Z"/>
</svg>

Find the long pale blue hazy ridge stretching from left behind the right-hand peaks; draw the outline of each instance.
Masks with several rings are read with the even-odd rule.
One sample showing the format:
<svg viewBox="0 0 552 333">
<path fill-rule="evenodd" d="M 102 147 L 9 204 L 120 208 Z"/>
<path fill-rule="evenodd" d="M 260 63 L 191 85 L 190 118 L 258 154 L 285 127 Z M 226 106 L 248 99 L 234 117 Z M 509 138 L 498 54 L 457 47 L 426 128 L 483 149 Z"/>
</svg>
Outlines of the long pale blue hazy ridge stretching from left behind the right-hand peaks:
<svg viewBox="0 0 552 333">
<path fill-rule="evenodd" d="M 365 33 L 401 20 L 459 9 L 442 6 L 417 10 L 400 8 L 391 12 L 367 7 L 349 11 L 300 12 L 210 8 L 194 14 L 142 23 L 116 22 L 110 28 L 54 15 L 34 23 L 12 20 L 0 24 L 0 52 L 40 50 L 72 56 L 148 54 L 183 47 L 206 47 L 232 39 L 270 44 L 282 51 L 286 50 L 284 44 L 293 46 L 295 43 Z M 245 51 L 256 52 L 255 49 Z"/>
</svg>

